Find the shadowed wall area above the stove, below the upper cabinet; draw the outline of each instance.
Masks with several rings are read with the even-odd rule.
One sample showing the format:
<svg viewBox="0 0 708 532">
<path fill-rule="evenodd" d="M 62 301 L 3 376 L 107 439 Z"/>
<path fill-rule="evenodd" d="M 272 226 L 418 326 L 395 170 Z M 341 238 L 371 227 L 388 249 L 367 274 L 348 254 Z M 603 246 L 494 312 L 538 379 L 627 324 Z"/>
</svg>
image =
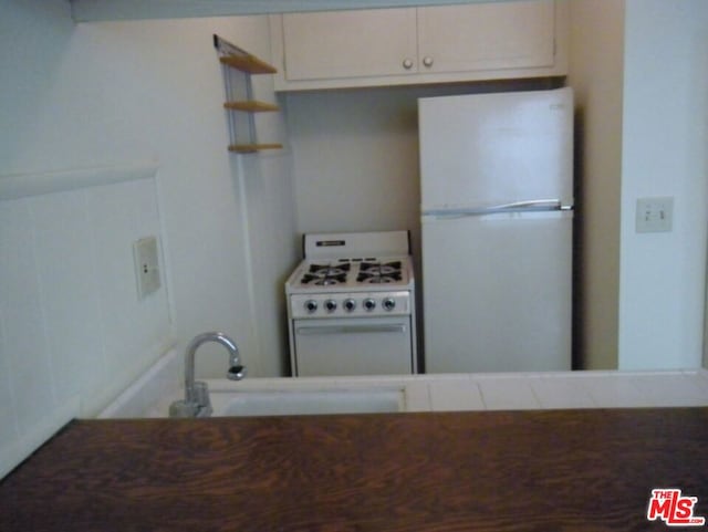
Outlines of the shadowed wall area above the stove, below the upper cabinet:
<svg viewBox="0 0 708 532">
<path fill-rule="evenodd" d="M 415 92 L 287 96 L 300 232 L 410 229 L 417 241 Z"/>
</svg>

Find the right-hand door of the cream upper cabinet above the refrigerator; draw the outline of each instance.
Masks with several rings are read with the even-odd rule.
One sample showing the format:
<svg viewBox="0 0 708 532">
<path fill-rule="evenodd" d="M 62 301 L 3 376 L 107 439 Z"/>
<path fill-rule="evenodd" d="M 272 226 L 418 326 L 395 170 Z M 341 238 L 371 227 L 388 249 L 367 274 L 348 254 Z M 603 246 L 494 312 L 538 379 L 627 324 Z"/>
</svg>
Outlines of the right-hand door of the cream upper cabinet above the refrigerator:
<svg viewBox="0 0 708 532">
<path fill-rule="evenodd" d="M 554 9 L 552 0 L 419 8 L 418 69 L 433 73 L 553 66 Z"/>
</svg>

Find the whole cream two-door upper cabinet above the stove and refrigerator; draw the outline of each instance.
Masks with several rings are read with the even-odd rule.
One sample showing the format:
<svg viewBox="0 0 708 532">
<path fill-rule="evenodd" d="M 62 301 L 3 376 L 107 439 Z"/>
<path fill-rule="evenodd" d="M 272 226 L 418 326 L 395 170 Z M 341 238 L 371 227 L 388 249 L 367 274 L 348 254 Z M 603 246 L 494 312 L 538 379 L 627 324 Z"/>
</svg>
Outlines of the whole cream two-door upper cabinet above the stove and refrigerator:
<svg viewBox="0 0 708 532">
<path fill-rule="evenodd" d="M 290 13 L 270 23 L 278 91 L 568 73 L 562 0 Z"/>
</svg>

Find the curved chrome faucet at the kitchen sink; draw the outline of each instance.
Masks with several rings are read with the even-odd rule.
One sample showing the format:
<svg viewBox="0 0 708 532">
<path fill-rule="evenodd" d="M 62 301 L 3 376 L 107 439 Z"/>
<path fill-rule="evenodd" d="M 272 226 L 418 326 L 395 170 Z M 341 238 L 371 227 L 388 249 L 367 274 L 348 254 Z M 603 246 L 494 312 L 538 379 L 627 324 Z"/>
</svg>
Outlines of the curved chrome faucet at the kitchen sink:
<svg viewBox="0 0 708 532">
<path fill-rule="evenodd" d="M 207 383 L 195 380 L 195 355 L 201 344 L 217 342 L 229 352 L 229 369 L 227 378 L 241 380 L 246 376 L 246 367 L 241 365 L 239 348 L 223 333 L 202 333 L 194 337 L 185 352 L 185 398 L 169 406 L 169 417 L 208 417 L 211 415 L 211 400 Z"/>
</svg>

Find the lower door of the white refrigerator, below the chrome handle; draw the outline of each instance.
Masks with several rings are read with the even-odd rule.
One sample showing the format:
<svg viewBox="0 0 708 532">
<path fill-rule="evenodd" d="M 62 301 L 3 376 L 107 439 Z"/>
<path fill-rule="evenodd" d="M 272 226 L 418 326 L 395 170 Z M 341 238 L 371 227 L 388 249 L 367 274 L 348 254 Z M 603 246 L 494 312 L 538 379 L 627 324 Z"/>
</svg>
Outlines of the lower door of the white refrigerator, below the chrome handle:
<svg viewBox="0 0 708 532">
<path fill-rule="evenodd" d="M 572 221 L 423 218 L 426 373 L 571 369 Z"/>
</svg>

